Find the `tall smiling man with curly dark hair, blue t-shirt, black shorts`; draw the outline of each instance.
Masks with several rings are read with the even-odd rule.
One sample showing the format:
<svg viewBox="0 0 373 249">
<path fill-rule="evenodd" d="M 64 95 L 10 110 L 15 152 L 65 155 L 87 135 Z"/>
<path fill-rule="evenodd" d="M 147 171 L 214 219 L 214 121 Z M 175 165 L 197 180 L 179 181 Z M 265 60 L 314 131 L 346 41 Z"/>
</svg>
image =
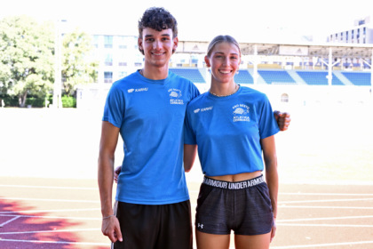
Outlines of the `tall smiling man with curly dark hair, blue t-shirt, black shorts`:
<svg viewBox="0 0 373 249">
<path fill-rule="evenodd" d="M 187 103 L 199 92 L 169 71 L 177 49 L 177 21 L 163 8 L 139 20 L 144 68 L 115 82 L 107 95 L 99 144 L 102 233 L 113 248 L 191 249 L 192 221 L 183 168 L 183 124 Z M 287 128 L 290 117 L 279 123 Z M 112 207 L 114 155 L 123 138 L 123 168 Z M 185 165 L 191 164 L 184 162 Z"/>
</svg>

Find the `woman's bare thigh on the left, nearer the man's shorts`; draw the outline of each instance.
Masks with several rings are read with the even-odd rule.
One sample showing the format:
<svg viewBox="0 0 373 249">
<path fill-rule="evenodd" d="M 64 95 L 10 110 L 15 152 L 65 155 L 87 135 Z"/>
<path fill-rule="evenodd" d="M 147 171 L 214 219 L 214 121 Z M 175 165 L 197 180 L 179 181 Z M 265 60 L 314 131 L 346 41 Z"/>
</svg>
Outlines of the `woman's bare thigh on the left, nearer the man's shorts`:
<svg viewBox="0 0 373 249">
<path fill-rule="evenodd" d="M 217 235 L 208 234 L 195 230 L 195 238 L 197 241 L 197 249 L 228 249 L 230 234 Z"/>
</svg>

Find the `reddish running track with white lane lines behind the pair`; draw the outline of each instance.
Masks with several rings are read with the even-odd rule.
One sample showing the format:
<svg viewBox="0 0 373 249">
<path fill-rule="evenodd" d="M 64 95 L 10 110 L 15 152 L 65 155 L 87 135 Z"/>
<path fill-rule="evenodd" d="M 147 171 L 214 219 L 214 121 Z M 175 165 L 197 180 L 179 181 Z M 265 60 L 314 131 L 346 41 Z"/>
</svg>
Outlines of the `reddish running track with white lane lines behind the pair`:
<svg viewBox="0 0 373 249">
<path fill-rule="evenodd" d="M 0 177 L 1 249 L 109 248 L 100 217 L 96 180 Z M 373 186 L 282 184 L 277 229 L 273 249 L 373 248 Z"/>
</svg>

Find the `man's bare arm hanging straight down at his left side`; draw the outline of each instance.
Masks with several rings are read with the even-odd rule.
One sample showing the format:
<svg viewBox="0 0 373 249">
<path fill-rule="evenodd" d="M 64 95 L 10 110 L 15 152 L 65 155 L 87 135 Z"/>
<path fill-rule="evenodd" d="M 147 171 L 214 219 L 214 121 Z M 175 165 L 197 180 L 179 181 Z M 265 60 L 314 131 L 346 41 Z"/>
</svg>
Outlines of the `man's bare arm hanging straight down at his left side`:
<svg viewBox="0 0 373 249">
<path fill-rule="evenodd" d="M 102 213 L 102 233 L 109 237 L 114 243 L 116 240 L 123 241 L 119 221 L 113 211 L 113 175 L 114 155 L 116 143 L 119 137 L 119 128 L 115 125 L 102 122 L 101 140 L 99 142 L 99 197 Z"/>
</svg>

